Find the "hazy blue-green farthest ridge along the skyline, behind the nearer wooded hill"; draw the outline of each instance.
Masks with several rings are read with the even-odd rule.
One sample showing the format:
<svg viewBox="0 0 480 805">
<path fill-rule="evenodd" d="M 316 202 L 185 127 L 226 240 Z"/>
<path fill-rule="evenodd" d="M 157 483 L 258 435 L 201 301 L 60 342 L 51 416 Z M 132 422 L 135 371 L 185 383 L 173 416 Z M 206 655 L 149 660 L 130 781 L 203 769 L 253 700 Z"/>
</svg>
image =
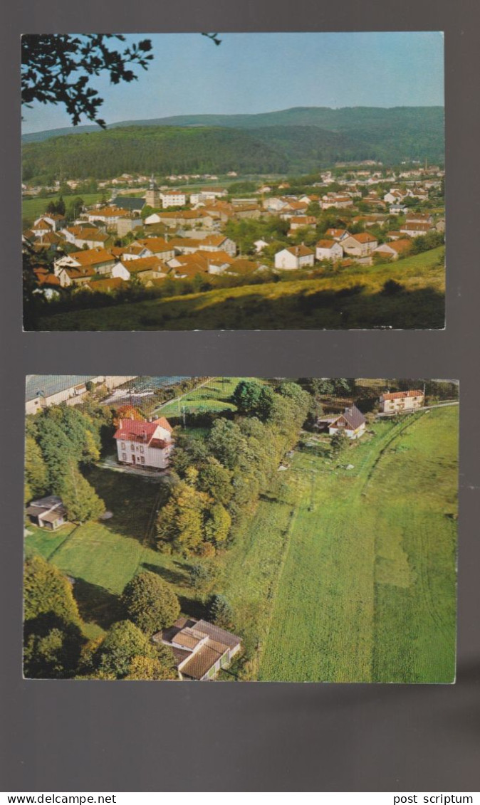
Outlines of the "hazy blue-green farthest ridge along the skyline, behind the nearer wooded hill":
<svg viewBox="0 0 480 805">
<path fill-rule="evenodd" d="M 278 112 L 258 114 L 183 114 L 167 118 L 124 120 L 110 123 L 107 130 L 125 126 L 226 126 L 228 128 L 257 128 L 262 126 L 320 126 L 329 130 L 350 129 L 356 123 L 403 119 L 411 121 L 418 114 L 443 126 L 443 106 L 344 106 L 331 109 L 328 106 L 296 106 Z M 22 142 L 41 142 L 52 137 L 68 134 L 91 134 L 99 126 L 68 126 L 61 129 L 35 131 L 22 135 Z"/>
</svg>

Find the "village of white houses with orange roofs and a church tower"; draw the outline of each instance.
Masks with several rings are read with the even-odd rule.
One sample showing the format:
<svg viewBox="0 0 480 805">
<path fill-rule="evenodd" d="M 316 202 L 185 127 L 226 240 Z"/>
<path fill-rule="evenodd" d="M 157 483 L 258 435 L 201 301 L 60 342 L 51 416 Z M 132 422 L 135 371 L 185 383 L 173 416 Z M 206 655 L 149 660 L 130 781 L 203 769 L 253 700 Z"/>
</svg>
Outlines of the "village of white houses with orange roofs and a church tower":
<svg viewBox="0 0 480 805">
<path fill-rule="evenodd" d="M 95 183 L 104 200 L 90 205 L 75 196 L 68 203 L 57 182 L 23 231 L 31 293 L 59 299 L 67 289 L 116 295 L 143 287 L 174 296 L 222 280 L 231 287 L 368 268 L 444 240 L 439 166 L 341 163 L 317 180 L 243 181 L 236 171 L 225 179 L 209 186 L 218 176 L 170 175 L 157 184 L 126 174 Z M 78 184 L 61 187 L 74 194 Z M 236 190 L 244 187 L 250 192 Z M 23 185 L 24 198 L 39 192 Z"/>
</svg>

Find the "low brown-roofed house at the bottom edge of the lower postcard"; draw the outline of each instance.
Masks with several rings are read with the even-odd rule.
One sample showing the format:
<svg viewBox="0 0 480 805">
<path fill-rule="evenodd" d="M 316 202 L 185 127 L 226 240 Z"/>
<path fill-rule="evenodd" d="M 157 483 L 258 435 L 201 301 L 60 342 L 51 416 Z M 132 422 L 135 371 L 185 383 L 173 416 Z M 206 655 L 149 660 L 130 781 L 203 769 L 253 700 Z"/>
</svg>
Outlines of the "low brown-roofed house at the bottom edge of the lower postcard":
<svg viewBox="0 0 480 805">
<path fill-rule="evenodd" d="M 242 641 L 208 621 L 180 617 L 169 629 L 154 634 L 154 642 L 172 648 L 180 679 L 215 679 L 218 671 L 230 665 Z"/>
</svg>

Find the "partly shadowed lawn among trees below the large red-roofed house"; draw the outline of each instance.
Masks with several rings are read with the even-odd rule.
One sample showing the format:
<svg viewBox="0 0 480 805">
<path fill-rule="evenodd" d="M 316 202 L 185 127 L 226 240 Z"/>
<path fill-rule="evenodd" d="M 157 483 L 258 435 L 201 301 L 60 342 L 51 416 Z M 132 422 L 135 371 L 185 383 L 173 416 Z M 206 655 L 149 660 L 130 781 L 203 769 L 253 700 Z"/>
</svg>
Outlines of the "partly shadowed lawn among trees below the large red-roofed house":
<svg viewBox="0 0 480 805">
<path fill-rule="evenodd" d="M 26 555 L 38 552 L 76 580 L 73 592 L 85 620 L 85 634 L 96 637 L 122 617 L 118 597 L 142 570 L 167 580 L 182 604 L 191 609 L 185 598 L 191 590 L 184 564 L 156 551 L 152 541 L 162 482 L 98 468 L 89 473 L 89 481 L 112 511 L 110 520 L 64 526 L 61 533 L 52 535 L 30 526 L 34 533 L 25 540 Z"/>
</svg>

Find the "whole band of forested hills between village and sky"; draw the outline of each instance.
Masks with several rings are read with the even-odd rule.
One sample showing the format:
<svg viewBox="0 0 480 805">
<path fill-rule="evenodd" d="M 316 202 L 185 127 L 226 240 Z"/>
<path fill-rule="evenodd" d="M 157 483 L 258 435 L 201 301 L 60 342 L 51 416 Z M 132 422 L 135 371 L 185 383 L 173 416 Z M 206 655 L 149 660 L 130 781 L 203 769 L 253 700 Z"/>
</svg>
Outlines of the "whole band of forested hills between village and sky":
<svg viewBox="0 0 480 805">
<path fill-rule="evenodd" d="M 47 171 L 98 179 L 124 171 L 311 171 L 354 159 L 443 162 L 443 108 L 300 107 L 254 115 L 183 115 L 116 123 L 106 131 L 78 126 L 23 137 L 25 180 Z"/>
</svg>

